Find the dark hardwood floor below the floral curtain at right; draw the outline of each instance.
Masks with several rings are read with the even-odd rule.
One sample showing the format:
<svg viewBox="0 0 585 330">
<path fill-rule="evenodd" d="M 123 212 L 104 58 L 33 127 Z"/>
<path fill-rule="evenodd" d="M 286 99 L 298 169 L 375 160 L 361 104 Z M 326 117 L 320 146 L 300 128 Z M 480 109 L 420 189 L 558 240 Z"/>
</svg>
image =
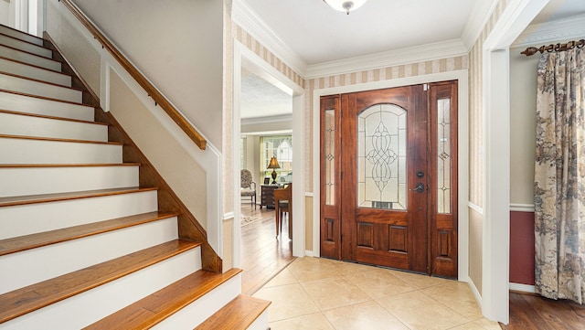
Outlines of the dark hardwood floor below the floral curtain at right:
<svg viewBox="0 0 585 330">
<path fill-rule="evenodd" d="M 510 293 L 510 323 L 504 330 L 585 329 L 585 305 L 535 294 Z"/>
</svg>

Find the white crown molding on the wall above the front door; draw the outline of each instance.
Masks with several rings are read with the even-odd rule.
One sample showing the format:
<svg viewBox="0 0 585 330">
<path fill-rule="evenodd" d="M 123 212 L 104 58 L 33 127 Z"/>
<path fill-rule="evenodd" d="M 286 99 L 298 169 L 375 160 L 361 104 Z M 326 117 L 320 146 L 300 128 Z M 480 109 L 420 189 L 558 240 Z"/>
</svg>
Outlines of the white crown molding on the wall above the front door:
<svg viewBox="0 0 585 330">
<path fill-rule="evenodd" d="M 410 48 L 388 50 L 350 59 L 339 59 L 309 65 L 305 78 L 314 79 L 369 69 L 383 69 L 434 59 L 446 59 L 467 55 L 467 52 L 467 48 L 465 48 L 461 39 L 452 39 Z"/>
</svg>

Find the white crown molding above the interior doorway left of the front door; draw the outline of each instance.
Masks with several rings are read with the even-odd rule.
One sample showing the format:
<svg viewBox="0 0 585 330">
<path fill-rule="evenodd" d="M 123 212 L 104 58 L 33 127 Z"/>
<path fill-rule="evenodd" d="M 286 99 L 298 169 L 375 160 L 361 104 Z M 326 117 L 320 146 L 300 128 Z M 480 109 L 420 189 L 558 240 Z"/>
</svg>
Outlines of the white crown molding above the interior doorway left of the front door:
<svg viewBox="0 0 585 330">
<path fill-rule="evenodd" d="M 231 19 L 245 29 L 252 37 L 260 41 L 267 48 L 296 73 L 304 76 L 306 63 L 299 58 L 291 48 L 282 41 L 264 21 L 257 16 L 244 0 L 233 0 Z"/>
</svg>

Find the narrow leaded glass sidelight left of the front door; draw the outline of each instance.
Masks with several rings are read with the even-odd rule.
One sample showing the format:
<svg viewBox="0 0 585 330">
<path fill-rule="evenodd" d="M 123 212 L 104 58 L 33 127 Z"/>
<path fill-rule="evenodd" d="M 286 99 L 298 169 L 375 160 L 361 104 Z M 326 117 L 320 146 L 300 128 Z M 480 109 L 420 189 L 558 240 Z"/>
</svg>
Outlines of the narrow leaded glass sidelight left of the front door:
<svg viewBox="0 0 585 330">
<path fill-rule="evenodd" d="M 335 110 L 324 112 L 325 205 L 335 205 Z"/>
</svg>

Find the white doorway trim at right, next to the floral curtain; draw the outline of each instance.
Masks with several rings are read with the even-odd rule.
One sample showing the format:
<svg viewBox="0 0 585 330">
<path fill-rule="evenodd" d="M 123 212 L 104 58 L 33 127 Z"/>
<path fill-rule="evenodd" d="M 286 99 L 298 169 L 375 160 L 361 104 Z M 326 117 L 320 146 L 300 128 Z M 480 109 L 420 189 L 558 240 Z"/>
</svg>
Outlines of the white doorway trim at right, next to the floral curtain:
<svg viewBox="0 0 585 330">
<path fill-rule="evenodd" d="M 549 0 L 511 0 L 484 41 L 482 314 L 508 324 L 510 268 L 510 45 Z"/>
</svg>

